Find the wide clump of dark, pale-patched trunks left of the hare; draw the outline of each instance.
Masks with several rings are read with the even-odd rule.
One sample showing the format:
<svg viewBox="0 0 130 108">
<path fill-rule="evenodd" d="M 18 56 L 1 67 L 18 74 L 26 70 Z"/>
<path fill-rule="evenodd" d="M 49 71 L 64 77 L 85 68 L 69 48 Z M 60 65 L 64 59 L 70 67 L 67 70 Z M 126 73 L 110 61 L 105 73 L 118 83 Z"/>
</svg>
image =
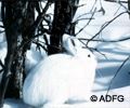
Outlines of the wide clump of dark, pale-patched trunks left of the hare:
<svg viewBox="0 0 130 108">
<path fill-rule="evenodd" d="M 6 0 L 2 1 L 1 9 L 8 43 L 8 54 L 0 83 L 0 108 L 3 105 L 4 97 L 20 98 L 22 95 L 25 75 L 25 55 L 27 49 L 30 48 L 28 40 L 34 37 L 35 33 L 35 31 L 27 33 L 35 22 L 34 2 Z"/>
</svg>

